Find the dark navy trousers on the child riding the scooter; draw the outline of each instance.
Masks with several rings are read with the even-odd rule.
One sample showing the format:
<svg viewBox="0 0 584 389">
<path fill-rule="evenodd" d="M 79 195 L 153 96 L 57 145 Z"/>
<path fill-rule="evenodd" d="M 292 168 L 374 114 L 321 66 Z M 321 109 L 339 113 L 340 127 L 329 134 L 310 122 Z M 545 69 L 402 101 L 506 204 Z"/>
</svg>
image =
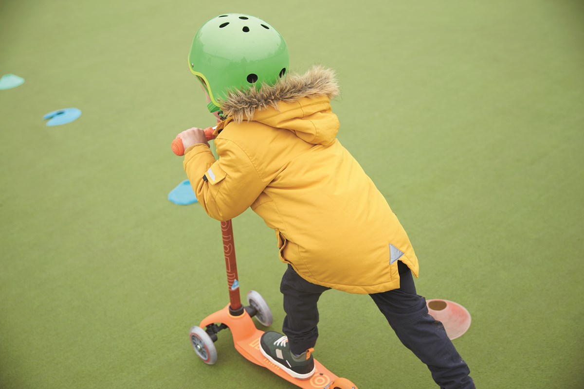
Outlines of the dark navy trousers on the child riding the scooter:
<svg viewBox="0 0 584 389">
<path fill-rule="evenodd" d="M 398 262 L 399 289 L 371 294 L 371 299 L 387 318 L 399 340 L 426 364 L 432 378 L 442 389 L 475 388 L 467 364 L 446 335 L 444 326 L 428 314 L 426 299 L 416 294 L 412 273 Z M 301 354 L 314 347 L 318 338 L 318 299 L 326 288 L 301 278 L 294 269 L 282 277 L 284 295 L 282 330 L 290 350 Z"/>
</svg>

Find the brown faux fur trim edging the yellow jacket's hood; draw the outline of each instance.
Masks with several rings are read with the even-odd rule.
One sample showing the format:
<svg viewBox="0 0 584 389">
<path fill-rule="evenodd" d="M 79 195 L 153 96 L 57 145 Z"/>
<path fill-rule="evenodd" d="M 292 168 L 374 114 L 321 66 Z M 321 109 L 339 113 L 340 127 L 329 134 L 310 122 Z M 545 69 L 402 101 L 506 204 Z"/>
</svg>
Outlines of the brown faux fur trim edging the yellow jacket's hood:
<svg viewBox="0 0 584 389">
<path fill-rule="evenodd" d="M 242 92 L 231 91 L 227 100 L 219 101 L 225 116 L 232 116 L 235 121 L 251 119 L 256 110 L 274 107 L 278 103 L 293 103 L 302 97 L 328 96 L 332 99 L 339 93 L 339 84 L 335 71 L 317 65 L 304 75 L 290 73 L 273 86 L 263 85 L 259 90 L 251 88 Z"/>
</svg>

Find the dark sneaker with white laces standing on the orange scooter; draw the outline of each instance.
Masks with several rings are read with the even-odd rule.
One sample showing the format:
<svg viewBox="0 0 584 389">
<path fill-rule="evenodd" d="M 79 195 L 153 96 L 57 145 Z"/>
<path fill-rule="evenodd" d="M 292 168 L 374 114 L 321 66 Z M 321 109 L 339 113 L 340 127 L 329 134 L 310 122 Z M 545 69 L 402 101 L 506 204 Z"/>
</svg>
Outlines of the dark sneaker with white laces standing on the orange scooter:
<svg viewBox="0 0 584 389">
<path fill-rule="evenodd" d="M 274 331 L 267 331 L 260 338 L 260 351 L 274 365 L 280 367 L 290 376 L 308 380 L 314 374 L 314 358 L 311 353 L 314 349 L 310 348 L 294 356 L 288 346 L 288 337 Z"/>
</svg>

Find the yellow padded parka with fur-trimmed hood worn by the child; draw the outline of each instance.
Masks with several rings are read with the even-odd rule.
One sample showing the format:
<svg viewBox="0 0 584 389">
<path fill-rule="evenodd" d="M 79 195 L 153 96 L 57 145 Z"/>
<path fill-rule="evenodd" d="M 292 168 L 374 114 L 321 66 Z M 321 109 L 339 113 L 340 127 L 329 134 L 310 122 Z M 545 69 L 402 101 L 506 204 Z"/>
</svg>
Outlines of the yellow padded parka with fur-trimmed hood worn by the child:
<svg viewBox="0 0 584 389">
<path fill-rule="evenodd" d="M 232 93 L 206 145 L 183 165 L 214 219 L 251 207 L 276 232 L 280 260 L 309 282 L 350 293 L 399 288 L 397 261 L 418 276 L 412 244 L 385 198 L 336 139 L 335 75 L 319 66 L 275 86 Z"/>
</svg>

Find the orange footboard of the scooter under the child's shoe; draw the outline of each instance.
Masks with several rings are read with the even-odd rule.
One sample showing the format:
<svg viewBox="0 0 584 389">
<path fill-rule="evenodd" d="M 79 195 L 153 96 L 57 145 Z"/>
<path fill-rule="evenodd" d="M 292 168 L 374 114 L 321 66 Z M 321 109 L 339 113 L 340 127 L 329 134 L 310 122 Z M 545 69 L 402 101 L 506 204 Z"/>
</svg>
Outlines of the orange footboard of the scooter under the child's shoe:
<svg viewBox="0 0 584 389">
<path fill-rule="evenodd" d="M 204 318 L 203 321 L 201 321 L 200 327 L 205 328 L 207 325 L 214 323 L 223 323 L 229 327 L 233 334 L 235 349 L 237 349 L 237 351 L 246 359 L 256 365 L 271 370 L 284 380 L 290 381 L 298 387 L 305 389 L 324 389 L 328 388 L 329 384 L 338 378 L 335 374 L 326 369 L 326 367 L 322 366 L 316 359 L 314 360 L 314 366 L 316 367 L 314 376 L 308 380 L 298 380 L 267 360 L 259 350 L 259 339 L 262 337 L 263 331 L 258 330 L 255 327 L 252 318 L 245 311 L 241 316 L 232 316 L 229 313 L 229 305 L 227 305 L 224 309 Z"/>
</svg>

